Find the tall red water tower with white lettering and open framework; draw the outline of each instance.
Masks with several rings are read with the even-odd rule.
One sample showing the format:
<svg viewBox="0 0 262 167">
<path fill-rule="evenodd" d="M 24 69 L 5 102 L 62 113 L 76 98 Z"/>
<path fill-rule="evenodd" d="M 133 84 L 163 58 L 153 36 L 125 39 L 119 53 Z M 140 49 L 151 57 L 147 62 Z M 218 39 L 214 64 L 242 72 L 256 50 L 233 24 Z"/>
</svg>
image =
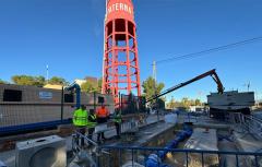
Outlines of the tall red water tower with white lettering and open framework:
<svg viewBox="0 0 262 167">
<path fill-rule="evenodd" d="M 104 94 L 141 96 L 136 27 L 132 0 L 107 0 L 103 62 Z"/>
</svg>

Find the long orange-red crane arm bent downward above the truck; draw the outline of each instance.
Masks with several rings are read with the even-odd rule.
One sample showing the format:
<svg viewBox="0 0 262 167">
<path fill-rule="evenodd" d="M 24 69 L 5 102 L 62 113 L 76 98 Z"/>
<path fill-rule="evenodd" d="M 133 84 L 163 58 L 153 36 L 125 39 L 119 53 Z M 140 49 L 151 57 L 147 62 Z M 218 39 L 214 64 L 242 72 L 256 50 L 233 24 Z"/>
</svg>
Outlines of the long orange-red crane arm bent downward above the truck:
<svg viewBox="0 0 262 167">
<path fill-rule="evenodd" d="M 154 99 L 156 99 L 156 98 L 159 98 L 159 97 L 162 97 L 162 96 L 164 96 L 164 95 L 166 95 L 166 94 L 169 94 L 169 93 L 171 93 L 171 92 L 174 92 L 174 91 L 176 91 L 176 90 L 179 90 L 179 88 L 181 88 L 181 87 L 183 87 L 183 86 L 187 86 L 187 85 L 189 85 L 189 84 L 191 84 L 191 83 L 193 83 L 193 82 L 195 82 L 195 81 L 202 80 L 202 79 L 204 79 L 204 77 L 206 77 L 206 76 L 212 76 L 212 79 L 213 79 L 213 80 L 215 81 L 215 83 L 217 84 L 217 92 L 221 93 L 221 94 L 223 94 L 223 93 L 224 93 L 224 86 L 223 86 L 223 84 L 222 84 L 222 82 L 221 82 L 221 79 L 218 77 L 218 75 L 217 75 L 217 73 L 216 73 L 216 70 L 213 69 L 213 70 L 207 71 L 207 72 L 205 72 L 205 73 L 203 73 L 203 74 L 201 74 L 201 75 L 198 75 L 198 76 L 195 76 L 195 77 L 193 77 L 193 79 L 191 79 L 191 80 L 189 80 L 189 81 L 187 81 L 187 82 L 183 82 L 183 83 L 180 83 L 180 84 L 178 84 L 178 85 L 176 85 L 176 86 L 172 86 L 172 87 L 170 87 L 170 88 L 162 92 L 162 93 L 158 94 L 158 95 L 153 96 L 152 98 L 147 99 L 146 103 L 152 102 L 152 100 L 154 100 Z"/>
</svg>

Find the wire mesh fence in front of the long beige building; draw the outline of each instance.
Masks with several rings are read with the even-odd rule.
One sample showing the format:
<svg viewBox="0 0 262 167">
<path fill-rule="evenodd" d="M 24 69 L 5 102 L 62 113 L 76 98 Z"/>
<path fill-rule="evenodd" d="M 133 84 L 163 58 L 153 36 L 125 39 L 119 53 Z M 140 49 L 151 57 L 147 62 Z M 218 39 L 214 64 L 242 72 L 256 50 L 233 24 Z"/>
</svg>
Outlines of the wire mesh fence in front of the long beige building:
<svg viewBox="0 0 262 167">
<path fill-rule="evenodd" d="M 114 99 L 110 95 L 82 93 L 81 104 L 86 109 L 96 109 L 105 99 L 112 114 Z M 75 94 L 61 90 L 37 86 L 0 84 L 0 135 L 10 135 L 25 131 L 56 128 L 71 123 L 75 110 Z"/>
</svg>

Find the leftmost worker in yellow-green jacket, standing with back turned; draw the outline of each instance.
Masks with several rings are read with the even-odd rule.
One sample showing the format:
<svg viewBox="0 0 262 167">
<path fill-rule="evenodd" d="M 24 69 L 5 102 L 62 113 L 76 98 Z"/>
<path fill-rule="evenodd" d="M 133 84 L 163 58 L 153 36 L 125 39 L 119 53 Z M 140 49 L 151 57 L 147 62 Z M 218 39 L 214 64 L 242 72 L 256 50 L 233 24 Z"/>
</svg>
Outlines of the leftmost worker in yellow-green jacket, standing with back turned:
<svg viewBox="0 0 262 167">
<path fill-rule="evenodd" d="M 85 128 L 87 126 L 87 111 L 84 105 L 74 111 L 73 124 L 76 128 L 76 132 L 85 135 Z M 78 139 L 80 139 L 80 135 L 78 135 Z M 84 146 L 84 138 L 81 138 L 79 145 Z"/>
</svg>

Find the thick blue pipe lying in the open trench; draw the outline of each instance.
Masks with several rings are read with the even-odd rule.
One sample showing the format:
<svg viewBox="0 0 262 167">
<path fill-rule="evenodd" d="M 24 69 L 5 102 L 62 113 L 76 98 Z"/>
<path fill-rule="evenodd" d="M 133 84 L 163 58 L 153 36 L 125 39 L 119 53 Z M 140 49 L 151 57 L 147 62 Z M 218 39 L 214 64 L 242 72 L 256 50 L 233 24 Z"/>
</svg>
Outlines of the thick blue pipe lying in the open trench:
<svg viewBox="0 0 262 167">
<path fill-rule="evenodd" d="M 179 132 L 175 140 L 169 142 L 164 148 L 167 150 L 176 148 L 179 142 L 191 136 L 192 133 L 193 133 L 192 129 L 184 124 L 183 130 Z M 168 167 L 168 165 L 162 163 L 165 159 L 167 153 L 168 151 L 160 151 L 158 154 L 151 154 L 145 162 L 145 167 Z"/>
</svg>

